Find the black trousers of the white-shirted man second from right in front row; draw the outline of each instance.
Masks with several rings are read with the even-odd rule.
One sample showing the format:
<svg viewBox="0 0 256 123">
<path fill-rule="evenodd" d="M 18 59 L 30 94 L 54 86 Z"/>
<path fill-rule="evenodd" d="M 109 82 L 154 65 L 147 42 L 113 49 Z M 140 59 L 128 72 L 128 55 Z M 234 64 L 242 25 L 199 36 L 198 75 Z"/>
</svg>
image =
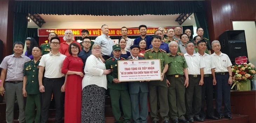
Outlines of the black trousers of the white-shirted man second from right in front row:
<svg viewBox="0 0 256 123">
<path fill-rule="evenodd" d="M 200 115 L 206 117 L 213 116 L 213 76 L 204 77 L 204 84 L 202 85 L 202 106 Z M 204 112 L 204 101 L 206 99 L 207 113 Z"/>
</svg>

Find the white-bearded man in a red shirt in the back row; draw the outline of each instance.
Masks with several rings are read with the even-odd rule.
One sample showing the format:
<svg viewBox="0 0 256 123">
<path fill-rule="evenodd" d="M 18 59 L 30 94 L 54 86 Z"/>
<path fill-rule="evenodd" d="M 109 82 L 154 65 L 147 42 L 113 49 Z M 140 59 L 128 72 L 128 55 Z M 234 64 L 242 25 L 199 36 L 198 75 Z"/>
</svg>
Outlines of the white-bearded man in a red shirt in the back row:
<svg viewBox="0 0 256 123">
<path fill-rule="evenodd" d="M 77 43 L 79 45 L 80 50 L 82 50 L 81 45 L 75 41 L 72 30 L 69 30 L 69 29 L 66 30 L 63 39 L 66 42 L 60 43 L 59 51 L 61 54 L 65 55 L 65 56 L 70 56 L 70 54 L 68 53 L 68 46 L 69 46 L 69 44 L 71 44 L 73 42 Z"/>
</svg>

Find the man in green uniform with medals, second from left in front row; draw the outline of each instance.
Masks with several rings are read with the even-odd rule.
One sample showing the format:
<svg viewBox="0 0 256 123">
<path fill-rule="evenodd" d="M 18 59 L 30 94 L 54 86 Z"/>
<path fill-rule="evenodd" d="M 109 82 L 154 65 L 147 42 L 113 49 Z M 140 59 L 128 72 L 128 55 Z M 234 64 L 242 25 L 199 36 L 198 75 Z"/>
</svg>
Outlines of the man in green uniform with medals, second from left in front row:
<svg viewBox="0 0 256 123">
<path fill-rule="evenodd" d="M 41 56 L 41 47 L 35 46 L 32 50 L 33 60 L 24 64 L 24 78 L 22 94 L 27 97 L 25 118 L 27 123 L 41 122 L 41 93 L 39 91 L 39 63 Z M 36 116 L 35 116 L 36 107 Z"/>
</svg>

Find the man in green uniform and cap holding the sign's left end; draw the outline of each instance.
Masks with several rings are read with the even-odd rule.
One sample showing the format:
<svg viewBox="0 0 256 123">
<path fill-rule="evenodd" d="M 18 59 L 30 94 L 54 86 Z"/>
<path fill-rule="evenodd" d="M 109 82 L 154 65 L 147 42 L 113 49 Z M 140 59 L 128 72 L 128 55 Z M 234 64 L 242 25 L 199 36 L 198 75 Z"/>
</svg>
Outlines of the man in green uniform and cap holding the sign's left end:
<svg viewBox="0 0 256 123">
<path fill-rule="evenodd" d="M 128 92 L 128 86 L 126 82 L 120 82 L 118 78 L 118 70 L 117 70 L 117 60 L 125 60 L 120 57 L 121 48 L 120 45 L 113 45 L 113 55 L 114 57 L 106 60 L 105 65 L 106 69 L 111 69 L 112 72 L 107 75 L 108 80 L 108 89 L 110 92 L 111 106 L 112 112 L 116 119 L 115 123 L 130 123 L 130 119 L 132 119 L 132 105 L 130 100 L 130 95 Z M 120 111 L 120 103 L 123 109 L 123 120 L 120 120 L 121 111 Z"/>
</svg>

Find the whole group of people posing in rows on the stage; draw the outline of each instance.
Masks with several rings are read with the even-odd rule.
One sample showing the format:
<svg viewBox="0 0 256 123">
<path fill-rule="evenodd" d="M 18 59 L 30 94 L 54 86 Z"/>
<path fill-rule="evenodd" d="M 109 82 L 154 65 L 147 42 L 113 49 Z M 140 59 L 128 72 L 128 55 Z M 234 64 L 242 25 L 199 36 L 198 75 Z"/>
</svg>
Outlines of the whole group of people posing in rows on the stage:
<svg viewBox="0 0 256 123">
<path fill-rule="evenodd" d="M 224 117 L 232 118 L 232 64 L 220 51 L 220 42 L 210 44 L 203 37 L 202 28 L 197 28 L 198 36 L 193 39 L 190 29 L 182 34 L 180 27 L 168 29 L 167 37 L 163 28 L 151 37 L 146 35 L 147 26 L 141 25 L 139 30 L 140 37 L 133 41 L 127 37 L 128 29 L 122 27 L 118 44 L 108 36 L 106 24 L 94 42 L 88 37 L 88 30 L 82 30 L 81 43 L 74 41 L 71 30 L 65 31 L 63 43 L 51 32 L 49 42 L 41 46 L 27 38 L 26 55 L 22 54 L 24 44 L 15 42 L 14 54 L 5 57 L 0 65 L 0 94 L 5 94 L 6 122 L 13 122 L 16 96 L 20 123 L 46 123 L 52 97 L 56 123 L 62 122 L 63 104 L 65 123 L 104 123 L 107 90 L 115 123 L 147 123 L 149 111 L 153 123 L 159 123 L 158 110 L 164 123 L 169 123 L 169 119 L 173 123 L 218 120 L 223 118 L 222 99 Z M 211 49 L 214 53 L 210 55 Z M 142 59 L 160 59 L 162 80 L 118 80 L 118 60 Z"/>
</svg>

